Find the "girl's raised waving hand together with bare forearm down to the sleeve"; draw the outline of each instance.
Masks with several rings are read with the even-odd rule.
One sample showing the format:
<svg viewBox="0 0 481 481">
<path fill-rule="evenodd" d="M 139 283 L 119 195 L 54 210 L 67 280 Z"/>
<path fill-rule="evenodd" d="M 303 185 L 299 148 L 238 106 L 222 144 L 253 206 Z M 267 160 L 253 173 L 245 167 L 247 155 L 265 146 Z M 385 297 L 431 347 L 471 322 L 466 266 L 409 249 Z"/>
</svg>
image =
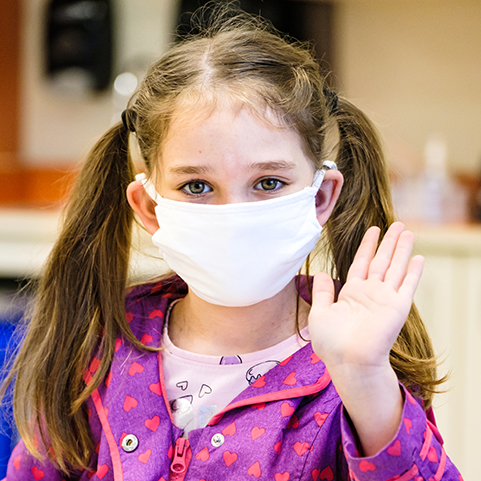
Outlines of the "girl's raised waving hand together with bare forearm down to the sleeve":
<svg viewBox="0 0 481 481">
<path fill-rule="evenodd" d="M 414 236 L 395 222 L 376 251 L 379 229 L 359 246 L 339 299 L 330 277 L 315 276 L 309 334 L 349 413 L 364 455 L 393 438 L 403 398 L 389 352 L 411 307 L 424 259 L 411 262 Z"/>
</svg>

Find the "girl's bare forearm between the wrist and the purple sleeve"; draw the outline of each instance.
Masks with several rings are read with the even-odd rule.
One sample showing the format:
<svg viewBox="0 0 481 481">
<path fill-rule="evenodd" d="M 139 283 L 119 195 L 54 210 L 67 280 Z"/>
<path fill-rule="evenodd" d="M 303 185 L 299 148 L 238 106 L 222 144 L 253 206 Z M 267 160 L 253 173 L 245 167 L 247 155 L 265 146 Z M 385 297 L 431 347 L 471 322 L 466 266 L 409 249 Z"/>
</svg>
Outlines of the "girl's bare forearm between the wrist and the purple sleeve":
<svg viewBox="0 0 481 481">
<path fill-rule="evenodd" d="M 380 368 L 336 366 L 329 369 L 359 438 L 362 456 L 373 456 L 396 435 L 403 396 L 390 365 Z"/>
</svg>

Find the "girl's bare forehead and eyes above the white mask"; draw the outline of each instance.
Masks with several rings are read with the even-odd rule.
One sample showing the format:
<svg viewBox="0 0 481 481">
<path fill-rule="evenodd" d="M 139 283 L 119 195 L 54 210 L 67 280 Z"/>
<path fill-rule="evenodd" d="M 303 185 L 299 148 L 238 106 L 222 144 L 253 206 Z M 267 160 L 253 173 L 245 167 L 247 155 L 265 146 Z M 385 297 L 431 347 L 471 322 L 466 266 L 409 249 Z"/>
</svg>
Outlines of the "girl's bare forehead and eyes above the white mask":
<svg viewBox="0 0 481 481">
<path fill-rule="evenodd" d="M 156 188 L 167 199 L 202 204 L 266 200 L 311 185 L 314 165 L 299 135 L 247 109 L 174 119 Z"/>
</svg>

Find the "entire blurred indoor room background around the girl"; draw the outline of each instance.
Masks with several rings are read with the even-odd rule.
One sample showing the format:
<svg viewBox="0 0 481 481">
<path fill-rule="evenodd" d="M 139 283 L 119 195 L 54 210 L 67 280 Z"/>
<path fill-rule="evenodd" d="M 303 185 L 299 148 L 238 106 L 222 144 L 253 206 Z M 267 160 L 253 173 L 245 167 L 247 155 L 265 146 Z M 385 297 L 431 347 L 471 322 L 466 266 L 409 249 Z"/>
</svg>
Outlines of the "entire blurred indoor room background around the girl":
<svg viewBox="0 0 481 481">
<path fill-rule="evenodd" d="M 24 305 L 18 288 L 39 275 L 79 164 L 96 139 L 120 120 L 147 66 L 175 41 L 188 12 L 202 3 L 0 2 L 4 345 Z M 416 302 L 444 359 L 440 371 L 451 372 L 448 392 L 435 401 L 438 424 L 464 479 L 477 479 L 481 1 L 240 4 L 280 30 L 312 41 L 321 65 L 331 72 L 330 85 L 362 108 L 381 132 L 398 216 L 414 230 L 416 250 L 427 259 Z M 152 272 L 157 269 L 145 255 L 134 258 L 133 275 L 147 265 Z M 15 437 L 8 426 L 3 434 L 0 463 Z"/>
</svg>

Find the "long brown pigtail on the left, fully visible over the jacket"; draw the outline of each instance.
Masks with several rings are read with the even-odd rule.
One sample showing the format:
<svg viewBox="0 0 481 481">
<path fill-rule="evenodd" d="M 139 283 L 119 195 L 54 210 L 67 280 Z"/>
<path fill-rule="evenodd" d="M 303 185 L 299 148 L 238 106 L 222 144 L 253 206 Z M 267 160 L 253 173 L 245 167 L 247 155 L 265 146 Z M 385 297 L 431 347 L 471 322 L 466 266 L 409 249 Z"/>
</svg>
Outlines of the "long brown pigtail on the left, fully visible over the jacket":
<svg viewBox="0 0 481 481">
<path fill-rule="evenodd" d="M 145 349 L 124 310 L 133 220 L 126 189 L 134 180 L 128 138 L 122 123 L 112 127 L 80 172 L 10 374 L 15 418 L 27 448 L 42 455 L 37 432 L 66 473 L 89 464 L 92 440 L 83 403 L 105 378 L 119 331 Z M 90 370 L 87 385 L 92 355 L 101 362 Z"/>
</svg>

